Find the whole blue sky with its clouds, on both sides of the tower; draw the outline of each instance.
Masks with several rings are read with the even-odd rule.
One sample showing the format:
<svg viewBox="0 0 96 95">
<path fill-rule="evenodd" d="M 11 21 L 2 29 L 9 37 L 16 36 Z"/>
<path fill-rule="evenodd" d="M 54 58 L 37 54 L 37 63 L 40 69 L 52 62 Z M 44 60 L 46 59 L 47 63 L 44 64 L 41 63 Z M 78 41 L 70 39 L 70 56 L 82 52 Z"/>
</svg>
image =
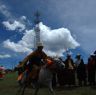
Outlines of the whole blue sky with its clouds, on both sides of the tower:
<svg viewBox="0 0 96 95">
<path fill-rule="evenodd" d="M 32 51 L 37 10 L 48 54 L 72 48 L 87 59 L 96 49 L 95 9 L 96 0 L 0 0 L 0 64 L 12 68 Z"/>
</svg>

